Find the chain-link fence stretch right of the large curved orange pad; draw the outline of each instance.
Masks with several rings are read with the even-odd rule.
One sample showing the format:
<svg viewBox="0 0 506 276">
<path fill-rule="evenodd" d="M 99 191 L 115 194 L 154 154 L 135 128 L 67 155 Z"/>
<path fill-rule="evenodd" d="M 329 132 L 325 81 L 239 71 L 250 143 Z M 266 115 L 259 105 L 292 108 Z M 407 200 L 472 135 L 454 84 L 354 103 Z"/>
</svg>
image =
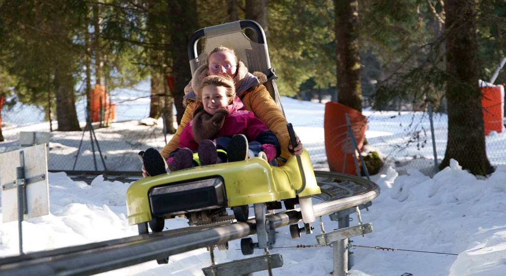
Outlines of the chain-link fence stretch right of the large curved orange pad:
<svg viewBox="0 0 506 276">
<path fill-rule="evenodd" d="M 475 114 L 477 115 L 474 116 L 475 119 L 469 116 L 473 110 L 448 110 L 450 114 L 451 112 L 457 114 L 453 129 L 460 138 L 450 141 L 452 143 L 450 146 L 461 153 L 461 162 L 467 161 L 471 164 L 480 162 L 480 157 L 474 150 L 479 147 L 479 135 L 484 135 L 486 154 L 491 165 L 506 164 L 506 132 L 503 131 L 501 110 L 502 107 L 499 105 L 484 109 L 483 112 L 474 111 L 478 113 Z M 496 114 L 492 114 L 491 111 Z M 481 131 L 463 132 L 466 127 L 476 124 L 476 118 L 483 114 L 487 135 Z M 432 113 L 434 131 L 431 130 L 429 111 L 364 112 L 364 115 L 368 121 L 367 143 L 371 147 L 368 150 L 377 150 L 385 163 L 395 168 L 399 174 L 404 174 L 409 168 L 415 168 L 426 175 L 436 173 L 437 166 L 441 164 L 447 150 L 447 114 Z"/>
</svg>

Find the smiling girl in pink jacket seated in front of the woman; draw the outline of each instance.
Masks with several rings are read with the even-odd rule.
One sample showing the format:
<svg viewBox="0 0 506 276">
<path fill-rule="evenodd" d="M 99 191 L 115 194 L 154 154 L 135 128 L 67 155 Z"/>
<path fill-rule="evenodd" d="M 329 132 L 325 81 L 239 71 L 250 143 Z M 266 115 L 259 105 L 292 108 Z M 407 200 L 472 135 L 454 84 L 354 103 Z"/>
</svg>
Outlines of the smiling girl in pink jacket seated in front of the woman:
<svg viewBox="0 0 506 276">
<path fill-rule="evenodd" d="M 271 162 L 281 154 L 276 136 L 265 123 L 253 112 L 241 110 L 244 105 L 235 96 L 230 77 L 205 77 L 195 94 L 201 103 L 179 136 L 179 148 L 167 159 L 173 170 L 198 163 L 242 161 L 258 156 L 261 151 Z M 194 152 L 198 159 L 194 158 Z"/>
</svg>

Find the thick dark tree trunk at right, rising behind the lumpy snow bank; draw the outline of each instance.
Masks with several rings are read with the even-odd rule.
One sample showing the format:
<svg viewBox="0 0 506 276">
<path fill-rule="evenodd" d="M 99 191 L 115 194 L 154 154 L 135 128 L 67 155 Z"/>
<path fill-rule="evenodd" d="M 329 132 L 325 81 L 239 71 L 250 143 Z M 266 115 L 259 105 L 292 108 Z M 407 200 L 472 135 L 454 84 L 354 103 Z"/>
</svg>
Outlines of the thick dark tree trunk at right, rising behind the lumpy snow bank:
<svg viewBox="0 0 506 276">
<path fill-rule="evenodd" d="M 486 175 L 493 168 L 485 151 L 475 5 L 471 0 L 445 2 L 446 72 L 452 79 L 446 85 L 448 144 L 440 168 L 453 158 L 471 173 Z"/>
</svg>

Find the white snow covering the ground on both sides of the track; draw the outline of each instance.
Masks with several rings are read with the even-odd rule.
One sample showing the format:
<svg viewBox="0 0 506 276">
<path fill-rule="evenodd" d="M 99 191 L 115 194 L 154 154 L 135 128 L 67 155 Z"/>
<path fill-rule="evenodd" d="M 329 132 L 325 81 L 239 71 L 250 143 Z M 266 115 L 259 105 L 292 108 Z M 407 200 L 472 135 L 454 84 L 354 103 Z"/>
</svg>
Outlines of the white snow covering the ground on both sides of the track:
<svg viewBox="0 0 506 276">
<path fill-rule="evenodd" d="M 296 131 L 305 147 L 321 145 L 324 105 L 288 98 L 283 98 L 283 104 L 288 120 L 296 123 Z M 366 134 L 367 139 L 402 139 L 396 136 L 400 132 L 396 130 L 396 126 L 392 125 L 390 131 L 385 131 L 378 128 L 376 123 L 381 124 L 382 121 L 370 121 L 371 130 Z M 41 124 L 26 126 L 31 130 L 45 127 L 47 126 Z M 114 127 L 112 133 L 97 131 L 97 134 L 105 139 L 110 138 L 109 135 L 114 132 L 134 128 L 149 129 L 149 126 L 139 125 L 137 121 L 119 123 Z M 23 131 L 23 128 L 6 129 L 6 132 L 9 134 L 11 131 L 9 135 L 14 136 L 15 131 Z M 54 149 L 58 145 L 69 145 L 70 142 L 79 143 L 80 133 L 58 135 L 58 142 L 52 145 Z M 498 139 L 496 137 L 500 135 L 501 133 L 497 133 L 487 139 Z M 9 143 L 14 142 L 8 141 L 0 144 L 0 147 L 9 147 Z M 156 143 L 160 141 L 152 139 L 146 142 L 153 146 L 156 146 Z M 61 146 L 58 148 L 60 152 L 51 158 L 68 158 L 76 146 Z M 122 154 L 124 153 L 118 153 L 117 156 L 110 154 L 108 160 L 121 163 Z M 454 160 L 451 161 L 450 167 L 433 177 L 414 168 L 406 169 L 402 173 L 400 175 L 396 168 L 387 166 L 381 175 L 376 176 L 375 182 L 382 192 L 372 201 L 368 211 L 362 211 L 363 222 L 372 223 L 373 232 L 365 238 L 351 239 L 353 245 L 400 250 L 392 252 L 353 247 L 351 251 L 354 254 L 351 256 L 354 265 L 350 270 L 351 275 L 503 275 L 506 271 L 506 165 L 498 165 L 492 175 L 480 179 L 462 170 Z M 63 172 L 57 172 L 49 173 L 49 185 L 51 214 L 23 221 L 25 252 L 138 235 L 137 227 L 129 226 L 125 218 L 125 192 L 131 183 L 106 181 L 102 176 L 98 176 L 91 185 L 87 185 L 82 181 L 72 181 Z M 314 202 L 317 203 L 316 200 Z M 1 216 L 2 214 L 0 219 Z M 352 214 L 351 218 L 353 221 L 350 224 L 356 225 L 356 215 Z M 322 219 L 326 231 L 338 228 L 338 223 L 330 221 L 329 216 L 326 215 Z M 165 221 L 165 227 L 168 229 L 186 226 L 185 219 Z M 320 233 L 320 229 L 317 223 L 314 226 L 314 234 L 303 234 L 299 240 L 290 238 L 288 227 L 276 229 L 277 240 L 271 253 L 280 253 L 284 265 L 274 269 L 274 275 L 329 275 L 333 269 L 331 247 L 296 248 L 297 245 L 317 244 L 315 235 Z M 253 239 L 256 240 L 256 237 Z M 13 256 L 18 253 L 17 221 L 0 224 L 0 243 L 0 256 Z M 261 250 L 256 250 L 255 256 L 262 253 Z M 243 259 L 240 241 L 230 242 L 230 249 L 226 252 L 215 250 L 215 257 L 219 263 Z M 171 256 L 170 262 L 165 265 L 149 261 L 101 275 L 203 275 L 201 268 L 209 263 L 207 250 L 202 248 Z M 267 275 L 267 272 L 258 272 L 255 275 Z"/>
</svg>

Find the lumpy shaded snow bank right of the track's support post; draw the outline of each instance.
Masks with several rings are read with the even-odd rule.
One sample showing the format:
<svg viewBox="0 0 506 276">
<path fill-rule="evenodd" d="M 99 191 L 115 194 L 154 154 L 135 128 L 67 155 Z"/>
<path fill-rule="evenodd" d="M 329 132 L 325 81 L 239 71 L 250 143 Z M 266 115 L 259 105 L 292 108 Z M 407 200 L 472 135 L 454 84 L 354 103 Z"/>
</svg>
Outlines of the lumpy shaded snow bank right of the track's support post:
<svg viewBox="0 0 506 276">
<path fill-rule="evenodd" d="M 382 194 L 363 220 L 374 231 L 357 244 L 418 252 L 356 249 L 354 269 L 371 275 L 503 275 L 506 271 L 506 167 L 487 180 L 451 160 L 450 167 L 429 178 L 414 169 L 397 176 L 393 169 L 376 183 Z M 365 256 L 363 255 L 365 254 Z M 376 257 L 388 264 L 378 264 Z M 402 257 L 401 257 L 402 256 Z M 421 258 L 421 259 L 419 259 Z M 401 261 L 402 260 L 402 261 Z M 399 261 L 399 262 L 397 262 Z M 407 263 L 407 264 L 406 264 Z M 389 273 L 387 273 L 387 271 Z"/>
</svg>

